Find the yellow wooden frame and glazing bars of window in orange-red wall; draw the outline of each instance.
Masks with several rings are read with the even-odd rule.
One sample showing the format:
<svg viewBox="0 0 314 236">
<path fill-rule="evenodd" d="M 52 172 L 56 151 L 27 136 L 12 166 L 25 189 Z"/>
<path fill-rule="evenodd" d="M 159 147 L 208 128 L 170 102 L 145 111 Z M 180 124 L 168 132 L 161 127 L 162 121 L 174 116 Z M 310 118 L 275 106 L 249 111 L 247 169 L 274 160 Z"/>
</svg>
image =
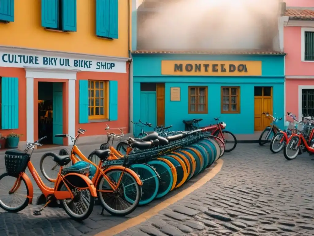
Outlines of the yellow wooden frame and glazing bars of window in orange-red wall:
<svg viewBox="0 0 314 236">
<path fill-rule="evenodd" d="M 103 82 L 104 83 L 104 88 L 101 89 L 99 88 L 99 90 L 103 90 L 104 91 L 104 115 L 89 115 L 88 116 L 88 119 L 89 120 L 106 120 L 106 119 L 109 119 L 109 81 L 106 81 L 106 80 L 88 80 L 88 85 L 89 83 L 91 82 L 94 82 L 94 88 L 88 88 L 88 91 L 90 90 L 94 90 L 94 104 L 93 106 L 90 106 L 89 105 L 89 95 L 88 95 L 88 109 L 92 108 L 94 109 L 94 114 L 95 114 L 95 107 L 96 107 L 96 91 L 98 88 L 95 88 L 95 82 Z M 88 86 L 89 87 L 89 86 Z M 91 85 L 90 85 L 91 87 Z M 100 87 L 100 85 L 99 85 Z M 99 96 L 100 96 L 100 91 L 99 91 Z M 98 106 L 100 108 L 100 106 Z"/>
</svg>

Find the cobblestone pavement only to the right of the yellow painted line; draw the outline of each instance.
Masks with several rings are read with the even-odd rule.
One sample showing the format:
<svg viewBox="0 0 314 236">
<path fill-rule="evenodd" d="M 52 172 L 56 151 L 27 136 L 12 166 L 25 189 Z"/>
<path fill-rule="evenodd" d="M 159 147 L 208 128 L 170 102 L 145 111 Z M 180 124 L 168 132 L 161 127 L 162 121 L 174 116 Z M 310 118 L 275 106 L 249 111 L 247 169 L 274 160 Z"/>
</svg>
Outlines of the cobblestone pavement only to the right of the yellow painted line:
<svg viewBox="0 0 314 236">
<path fill-rule="evenodd" d="M 314 161 L 238 144 L 208 183 L 117 235 L 314 235 Z"/>
</svg>

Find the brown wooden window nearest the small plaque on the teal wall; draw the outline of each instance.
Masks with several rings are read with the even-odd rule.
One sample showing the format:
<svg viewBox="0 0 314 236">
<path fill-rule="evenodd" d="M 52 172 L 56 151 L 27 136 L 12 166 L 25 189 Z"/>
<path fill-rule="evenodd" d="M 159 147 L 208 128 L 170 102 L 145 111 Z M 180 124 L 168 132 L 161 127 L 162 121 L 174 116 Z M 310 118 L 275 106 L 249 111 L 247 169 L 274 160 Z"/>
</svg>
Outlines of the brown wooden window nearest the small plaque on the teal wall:
<svg viewBox="0 0 314 236">
<path fill-rule="evenodd" d="M 207 114 L 207 87 L 189 86 L 189 114 Z"/>
</svg>

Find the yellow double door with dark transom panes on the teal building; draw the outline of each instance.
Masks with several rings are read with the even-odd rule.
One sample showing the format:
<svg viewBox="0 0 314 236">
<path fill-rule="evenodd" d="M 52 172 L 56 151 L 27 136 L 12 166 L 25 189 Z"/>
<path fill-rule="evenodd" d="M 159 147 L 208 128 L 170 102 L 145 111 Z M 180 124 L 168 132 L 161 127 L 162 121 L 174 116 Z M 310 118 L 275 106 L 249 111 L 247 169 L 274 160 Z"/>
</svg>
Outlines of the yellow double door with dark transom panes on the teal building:
<svg viewBox="0 0 314 236">
<path fill-rule="evenodd" d="M 254 131 L 263 131 L 270 125 L 271 119 L 263 115 L 273 115 L 272 87 L 254 87 Z"/>
</svg>

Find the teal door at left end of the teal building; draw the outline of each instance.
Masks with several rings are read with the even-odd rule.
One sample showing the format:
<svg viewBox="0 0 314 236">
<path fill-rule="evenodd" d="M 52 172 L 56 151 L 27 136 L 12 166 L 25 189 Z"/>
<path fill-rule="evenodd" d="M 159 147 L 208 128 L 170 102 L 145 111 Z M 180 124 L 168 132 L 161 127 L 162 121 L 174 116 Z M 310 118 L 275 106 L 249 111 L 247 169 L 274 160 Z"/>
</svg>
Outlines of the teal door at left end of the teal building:
<svg viewBox="0 0 314 236">
<path fill-rule="evenodd" d="M 141 92 L 141 121 L 143 123 L 148 122 L 156 126 L 157 122 L 157 107 L 156 107 L 156 91 L 153 92 Z M 148 126 L 144 127 L 144 131 L 153 131 L 153 128 Z"/>
</svg>

